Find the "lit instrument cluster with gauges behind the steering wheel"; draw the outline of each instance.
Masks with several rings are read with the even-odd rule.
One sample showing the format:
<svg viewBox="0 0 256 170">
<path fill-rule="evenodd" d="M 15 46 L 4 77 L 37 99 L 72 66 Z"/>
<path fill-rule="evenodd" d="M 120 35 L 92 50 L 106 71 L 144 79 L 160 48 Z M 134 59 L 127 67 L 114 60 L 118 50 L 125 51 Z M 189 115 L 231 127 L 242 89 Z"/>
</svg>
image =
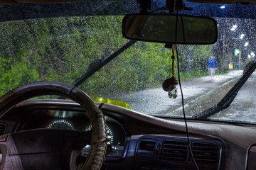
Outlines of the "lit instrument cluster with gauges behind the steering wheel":
<svg viewBox="0 0 256 170">
<path fill-rule="evenodd" d="M 107 124 L 107 157 L 121 157 L 124 150 L 126 133 L 124 128 L 117 120 L 104 116 Z M 63 129 L 63 130 L 80 130 L 90 131 L 92 126 L 87 113 L 81 111 L 56 111 L 43 110 L 34 112 L 28 120 L 21 125 L 20 130 L 32 130 L 38 128 Z M 90 145 L 82 149 L 83 154 L 90 152 Z"/>
</svg>

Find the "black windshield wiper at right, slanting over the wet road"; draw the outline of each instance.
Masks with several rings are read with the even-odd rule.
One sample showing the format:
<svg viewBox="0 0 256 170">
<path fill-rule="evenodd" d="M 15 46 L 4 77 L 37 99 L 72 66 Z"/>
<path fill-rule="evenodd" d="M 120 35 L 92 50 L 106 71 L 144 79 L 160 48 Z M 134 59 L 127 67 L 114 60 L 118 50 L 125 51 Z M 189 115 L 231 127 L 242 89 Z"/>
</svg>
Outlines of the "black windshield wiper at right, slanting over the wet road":
<svg viewBox="0 0 256 170">
<path fill-rule="evenodd" d="M 240 91 L 241 87 L 245 84 L 245 82 L 250 77 L 250 75 L 255 71 L 255 69 L 256 69 L 256 60 L 253 60 L 245 66 L 245 70 L 242 77 L 233 86 L 233 88 L 230 89 L 230 91 L 228 91 L 228 94 L 226 94 L 217 105 L 211 108 L 208 108 L 201 113 L 197 113 L 196 115 L 193 115 L 192 118 L 206 119 L 212 115 L 215 115 L 215 113 L 218 113 L 219 111 L 222 111 L 223 109 L 228 108 L 228 106 L 230 106 L 230 104 L 233 102 L 235 96 L 237 96 L 238 91 Z"/>
</svg>

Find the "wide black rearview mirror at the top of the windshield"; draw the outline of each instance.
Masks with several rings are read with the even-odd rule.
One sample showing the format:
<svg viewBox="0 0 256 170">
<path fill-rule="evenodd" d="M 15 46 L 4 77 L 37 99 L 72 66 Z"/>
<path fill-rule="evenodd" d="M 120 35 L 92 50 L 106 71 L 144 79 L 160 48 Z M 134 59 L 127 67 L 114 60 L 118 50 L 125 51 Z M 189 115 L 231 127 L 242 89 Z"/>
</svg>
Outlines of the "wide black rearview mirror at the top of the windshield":
<svg viewBox="0 0 256 170">
<path fill-rule="evenodd" d="M 129 14 L 122 34 L 130 40 L 207 45 L 217 41 L 218 28 L 215 19 L 204 16 L 178 15 L 177 21 L 174 14 Z"/>
</svg>

